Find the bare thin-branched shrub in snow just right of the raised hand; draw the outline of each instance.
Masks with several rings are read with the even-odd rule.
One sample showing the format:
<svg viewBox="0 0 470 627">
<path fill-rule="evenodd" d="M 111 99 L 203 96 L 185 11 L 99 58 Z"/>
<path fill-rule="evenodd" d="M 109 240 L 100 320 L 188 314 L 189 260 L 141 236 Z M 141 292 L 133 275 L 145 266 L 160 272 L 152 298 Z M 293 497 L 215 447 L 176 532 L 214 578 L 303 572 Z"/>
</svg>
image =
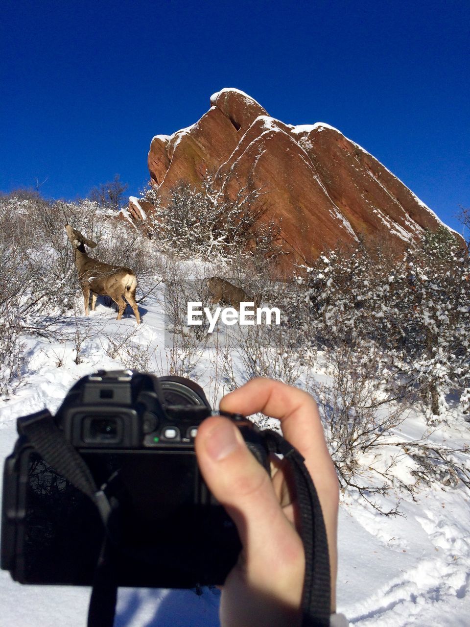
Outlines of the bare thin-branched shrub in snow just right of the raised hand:
<svg viewBox="0 0 470 627">
<path fill-rule="evenodd" d="M 392 474 L 394 459 L 373 466 L 364 460 L 374 458 L 377 446 L 390 439 L 393 430 L 407 415 L 409 405 L 390 394 L 384 386 L 387 363 L 377 345 L 362 352 L 344 343 L 319 354 L 325 383 L 312 386 L 318 400 L 328 449 L 337 469 L 340 484 L 357 489 L 376 509 L 382 511 L 373 495 L 385 494 L 397 483 Z M 320 365 L 320 364 L 318 364 Z M 382 458 L 384 461 L 384 458 Z M 367 475 L 384 480 L 377 487 Z M 372 482 L 371 482 L 372 481 Z M 396 508 L 387 514 L 396 513 Z"/>
</svg>

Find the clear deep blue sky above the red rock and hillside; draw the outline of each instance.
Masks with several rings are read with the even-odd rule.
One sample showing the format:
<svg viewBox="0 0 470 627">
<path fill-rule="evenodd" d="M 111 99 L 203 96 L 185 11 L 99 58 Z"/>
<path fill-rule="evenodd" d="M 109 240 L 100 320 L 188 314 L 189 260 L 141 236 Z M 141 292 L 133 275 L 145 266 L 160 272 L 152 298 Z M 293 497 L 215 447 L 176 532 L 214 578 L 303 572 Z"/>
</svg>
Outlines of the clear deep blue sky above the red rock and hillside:
<svg viewBox="0 0 470 627">
<path fill-rule="evenodd" d="M 0 190 L 137 194 L 156 134 L 222 87 L 327 122 L 447 224 L 470 206 L 469 0 L 3 0 Z"/>
</svg>

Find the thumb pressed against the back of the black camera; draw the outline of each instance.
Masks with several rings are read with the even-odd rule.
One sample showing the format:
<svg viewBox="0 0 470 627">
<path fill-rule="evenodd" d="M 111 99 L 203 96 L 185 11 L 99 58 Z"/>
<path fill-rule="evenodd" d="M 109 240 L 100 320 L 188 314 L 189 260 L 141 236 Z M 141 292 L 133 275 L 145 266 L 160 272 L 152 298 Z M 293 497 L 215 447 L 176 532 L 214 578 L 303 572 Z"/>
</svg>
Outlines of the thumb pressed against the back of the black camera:
<svg viewBox="0 0 470 627">
<path fill-rule="evenodd" d="M 207 418 L 196 436 L 202 476 L 234 521 L 243 545 L 249 579 L 266 579 L 286 568 L 303 579 L 303 546 L 283 514 L 271 478 L 248 450 L 239 429 L 227 418 Z M 273 551 L 273 547 L 274 551 Z M 282 556 L 279 559 L 279 556 Z"/>
</svg>

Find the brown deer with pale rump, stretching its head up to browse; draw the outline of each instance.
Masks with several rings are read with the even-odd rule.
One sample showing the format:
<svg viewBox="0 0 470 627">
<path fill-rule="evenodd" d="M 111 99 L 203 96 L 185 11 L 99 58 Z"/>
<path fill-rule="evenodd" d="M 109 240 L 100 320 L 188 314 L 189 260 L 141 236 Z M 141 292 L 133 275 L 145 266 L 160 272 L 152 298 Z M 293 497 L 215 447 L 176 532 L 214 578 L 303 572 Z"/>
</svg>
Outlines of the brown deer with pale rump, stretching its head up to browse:
<svg viewBox="0 0 470 627">
<path fill-rule="evenodd" d="M 85 245 L 95 248 L 96 243 L 87 240 L 80 231 L 76 231 L 70 224 L 66 224 L 65 230 L 73 249 L 78 280 L 83 292 L 83 300 L 85 300 L 85 314 L 88 315 L 89 312 L 90 293 L 92 311 L 95 310 L 97 295 L 109 296 L 118 306 L 117 320 L 122 318 L 127 303 L 129 303 L 135 314 L 137 324 L 140 324 L 140 315 L 135 302 L 137 278 L 133 271 L 123 266 L 103 263 L 89 257 L 86 254 Z"/>
</svg>

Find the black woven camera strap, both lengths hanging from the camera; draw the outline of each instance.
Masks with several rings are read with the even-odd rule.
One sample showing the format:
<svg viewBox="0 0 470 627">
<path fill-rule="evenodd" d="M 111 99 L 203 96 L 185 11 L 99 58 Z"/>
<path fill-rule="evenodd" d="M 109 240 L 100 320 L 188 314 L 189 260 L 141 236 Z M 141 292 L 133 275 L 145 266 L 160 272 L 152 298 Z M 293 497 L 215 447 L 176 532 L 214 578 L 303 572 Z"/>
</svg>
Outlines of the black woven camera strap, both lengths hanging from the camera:
<svg viewBox="0 0 470 627">
<path fill-rule="evenodd" d="M 18 419 L 18 433 L 28 438 L 44 461 L 78 490 L 91 498 L 98 508 L 107 532 L 113 510 L 106 486 L 97 490 L 90 468 L 75 448 L 66 440 L 48 409 Z M 301 539 L 305 551 L 305 579 L 302 594 L 302 627 L 330 625 L 330 560 L 325 522 L 320 500 L 311 480 L 304 458 L 274 431 L 262 431 L 271 453 L 283 455 L 290 464 L 301 517 Z M 112 478 L 110 478 L 112 479 Z M 95 581 L 88 609 L 88 627 L 112 627 L 117 601 L 117 586 L 113 580 L 112 551 L 108 535 L 95 571 Z"/>
</svg>

